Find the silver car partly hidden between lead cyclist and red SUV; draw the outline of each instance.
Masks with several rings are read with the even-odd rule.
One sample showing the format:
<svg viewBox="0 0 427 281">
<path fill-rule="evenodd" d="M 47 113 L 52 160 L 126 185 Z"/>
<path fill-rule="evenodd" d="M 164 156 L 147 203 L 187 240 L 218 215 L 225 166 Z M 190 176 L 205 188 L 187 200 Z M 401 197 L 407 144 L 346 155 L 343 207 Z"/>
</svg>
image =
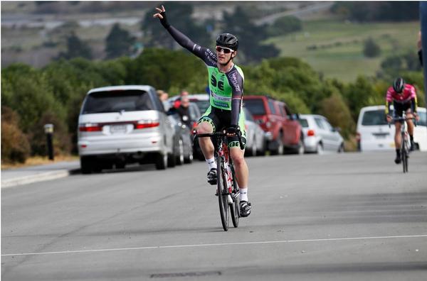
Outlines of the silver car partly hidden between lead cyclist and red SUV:
<svg viewBox="0 0 427 281">
<path fill-rule="evenodd" d="M 251 112 L 243 107 L 245 113 L 245 126 L 246 126 L 246 150 L 245 154 L 249 156 L 265 155 L 265 132 L 255 122 Z"/>
</svg>

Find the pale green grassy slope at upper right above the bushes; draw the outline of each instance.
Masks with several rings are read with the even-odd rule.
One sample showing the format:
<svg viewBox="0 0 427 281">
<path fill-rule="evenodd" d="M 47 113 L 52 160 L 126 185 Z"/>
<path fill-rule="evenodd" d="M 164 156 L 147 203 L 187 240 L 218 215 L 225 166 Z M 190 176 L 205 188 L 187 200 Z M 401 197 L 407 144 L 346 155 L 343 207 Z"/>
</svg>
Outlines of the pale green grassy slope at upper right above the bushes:
<svg viewBox="0 0 427 281">
<path fill-rule="evenodd" d="M 281 56 L 300 57 L 326 77 L 353 81 L 357 75 L 375 75 L 381 60 L 391 54 L 416 53 L 420 24 L 350 23 L 344 21 L 305 21 L 303 30 L 292 35 L 270 38 L 280 48 Z M 381 47 L 381 55 L 363 55 L 364 40 L 373 38 Z M 310 49 L 310 50 L 309 50 Z"/>
</svg>

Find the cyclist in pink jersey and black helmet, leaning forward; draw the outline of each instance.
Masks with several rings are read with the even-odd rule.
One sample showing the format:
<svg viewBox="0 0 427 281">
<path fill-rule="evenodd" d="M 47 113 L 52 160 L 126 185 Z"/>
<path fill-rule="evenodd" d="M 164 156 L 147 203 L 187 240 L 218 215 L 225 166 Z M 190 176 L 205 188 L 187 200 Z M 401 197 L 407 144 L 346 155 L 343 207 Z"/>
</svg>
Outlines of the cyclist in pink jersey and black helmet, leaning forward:
<svg viewBox="0 0 427 281">
<path fill-rule="evenodd" d="M 394 116 L 391 116 L 390 106 L 393 104 Z M 406 111 L 406 123 L 408 124 L 409 138 L 411 139 L 411 150 L 414 149 L 413 145 L 413 122 L 412 118 L 415 116 L 416 120 L 419 119 L 416 114 L 416 92 L 415 87 L 410 84 L 406 84 L 404 79 L 397 77 L 394 79 L 393 86 L 389 87 L 386 94 L 386 118 L 387 122 L 391 122 L 393 117 L 402 117 L 403 112 Z M 394 162 L 399 164 L 401 162 L 401 123 L 399 121 L 394 122 L 396 131 L 394 132 L 394 145 L 396 145 L 396 159 Z"/>
</svg>

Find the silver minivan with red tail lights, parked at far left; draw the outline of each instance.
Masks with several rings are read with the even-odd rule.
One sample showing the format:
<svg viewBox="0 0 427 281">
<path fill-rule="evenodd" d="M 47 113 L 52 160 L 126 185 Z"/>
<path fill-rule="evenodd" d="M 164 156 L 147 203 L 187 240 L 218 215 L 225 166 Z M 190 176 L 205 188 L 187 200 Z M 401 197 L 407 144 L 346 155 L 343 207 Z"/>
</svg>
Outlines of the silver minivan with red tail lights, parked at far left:
<svg viewBox="0 0 427 281">
<path fill-rule="evenodd" d="M 153 87 L 101 87 L 86 95 L 78 118 L 83 173 L 129 162 L 154 162 L 164 170 L 173 148 L 174 128 Z"/>
</svg>

